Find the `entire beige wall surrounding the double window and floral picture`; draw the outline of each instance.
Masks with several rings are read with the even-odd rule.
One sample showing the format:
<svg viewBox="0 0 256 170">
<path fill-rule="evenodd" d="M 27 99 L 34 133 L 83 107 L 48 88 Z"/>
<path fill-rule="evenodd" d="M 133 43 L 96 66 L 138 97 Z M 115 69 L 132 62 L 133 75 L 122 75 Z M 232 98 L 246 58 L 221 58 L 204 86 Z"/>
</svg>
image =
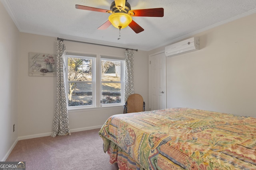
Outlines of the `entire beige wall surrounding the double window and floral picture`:
<svg viewBox="0 0 256 170">
<path fill-rule="evenodd" d="M 47 37 L 29 33 L 20 33 L 20 63 L 18 97 L 18 121 L 21 139 L 50 135 L 56 100 L 56 77 L 28 76 L 28 53 L 56 54 L 56 37 Z M 125 49 L 104 47 L 85 43 L 64 41 L 66 51 L 99 53 L 124 57 Z M 135 92 L 142 94 L 148 101 L 148 53 L 134 51 L 134 86 Z M 145 83 L 144 83 L 145 84 Z M 123 107 L 87 109 L 86 111 L 69 111 L 71 131 L 80 131 L 101 127 L 106 119 L 114 114 L 123 113 Z M 31 136 L 32 135 L 32 136 Z"/>
</svg>

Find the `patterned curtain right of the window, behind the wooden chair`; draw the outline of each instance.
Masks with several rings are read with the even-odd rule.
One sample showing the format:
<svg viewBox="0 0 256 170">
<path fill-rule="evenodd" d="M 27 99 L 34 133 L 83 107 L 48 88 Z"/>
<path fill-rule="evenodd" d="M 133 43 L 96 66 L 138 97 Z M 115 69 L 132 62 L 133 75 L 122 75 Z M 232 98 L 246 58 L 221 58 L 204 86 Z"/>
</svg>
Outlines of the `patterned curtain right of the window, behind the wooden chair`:
<svg viewBox="0 0 256 170">
<path fill-rule="evenodd" d="M 131 94 L 134 94 L 134 83 L 133 83 L 133 51 L 126 49 L 125 50 L 125 76 L 124 76 L 124 102 L 127 101 L 128 97 Z"/>
</svg>

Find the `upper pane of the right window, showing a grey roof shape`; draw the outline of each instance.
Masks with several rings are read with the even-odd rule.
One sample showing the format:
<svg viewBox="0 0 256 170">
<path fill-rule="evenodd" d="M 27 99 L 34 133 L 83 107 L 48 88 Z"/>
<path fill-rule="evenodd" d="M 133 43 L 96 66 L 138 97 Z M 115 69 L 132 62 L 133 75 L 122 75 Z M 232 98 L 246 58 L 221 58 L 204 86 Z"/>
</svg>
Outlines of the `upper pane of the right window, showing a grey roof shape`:
<svg viewBox="0 0 256 170">
<path fill-rule="evenodd" d="M 121 81 L 121 62 L 120 61 L 101 61 L 101 81 Z"/>
</svg>

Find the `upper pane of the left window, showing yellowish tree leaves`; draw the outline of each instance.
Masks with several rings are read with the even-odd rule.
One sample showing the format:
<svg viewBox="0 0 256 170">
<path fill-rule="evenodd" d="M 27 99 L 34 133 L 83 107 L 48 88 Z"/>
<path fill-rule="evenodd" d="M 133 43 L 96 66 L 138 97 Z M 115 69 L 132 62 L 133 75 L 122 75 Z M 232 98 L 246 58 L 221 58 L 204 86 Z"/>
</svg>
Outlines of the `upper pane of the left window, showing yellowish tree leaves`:
<svg viewBox="0 0 256 170">
<path fill-rule="evenodd" d="M 91 81 L 92 59 L 80 59 L 68 57 L 68 80 Z"/>
</svg>

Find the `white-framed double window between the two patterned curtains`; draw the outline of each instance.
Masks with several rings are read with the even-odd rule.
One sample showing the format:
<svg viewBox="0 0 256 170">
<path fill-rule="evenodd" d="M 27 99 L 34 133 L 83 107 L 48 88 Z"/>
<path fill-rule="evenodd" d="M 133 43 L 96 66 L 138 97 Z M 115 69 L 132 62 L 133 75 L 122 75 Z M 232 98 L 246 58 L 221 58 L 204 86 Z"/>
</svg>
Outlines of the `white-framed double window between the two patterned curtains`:
<svg viewBox="0 0 256 170">
<path fill-rule="evenodd" d="M 75 53 L 65 57 L 68 109 L 123 105 L 124 60 Z"/>
</svg>

